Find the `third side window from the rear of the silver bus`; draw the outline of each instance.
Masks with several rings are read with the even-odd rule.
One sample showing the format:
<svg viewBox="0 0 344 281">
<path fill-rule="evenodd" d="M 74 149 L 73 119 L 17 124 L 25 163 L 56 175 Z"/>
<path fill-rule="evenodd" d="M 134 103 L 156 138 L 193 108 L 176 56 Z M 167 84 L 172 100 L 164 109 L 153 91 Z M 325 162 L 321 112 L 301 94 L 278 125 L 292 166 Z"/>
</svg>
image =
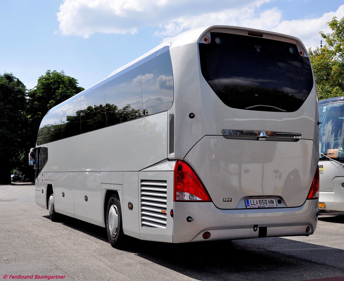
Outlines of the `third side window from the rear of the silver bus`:
<svg viewBox="0 0 344 281">
<path fill-rule="evenodd" d="M 106 127 L 105 85 L 81 97 L 80 121 L 82 133 Z"/>
</svg>

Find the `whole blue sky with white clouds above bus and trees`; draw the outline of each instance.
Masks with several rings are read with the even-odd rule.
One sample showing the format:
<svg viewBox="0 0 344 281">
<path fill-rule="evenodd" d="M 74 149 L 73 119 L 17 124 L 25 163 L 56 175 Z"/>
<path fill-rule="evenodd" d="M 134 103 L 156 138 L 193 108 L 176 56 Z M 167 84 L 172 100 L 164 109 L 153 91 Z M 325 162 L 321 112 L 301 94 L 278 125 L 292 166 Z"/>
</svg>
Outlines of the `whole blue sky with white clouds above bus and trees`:
<svg viewBox="0 0 344 281">
<path fill-rule="evenodd" d="M 342 0 L 3 0 L 0 74 L 32 89 L 48 69 L 64 71 L 89 88 L 191 28 L 270 30 L 315 48 L 334 16 L 344 17 Z"/>
</svg>

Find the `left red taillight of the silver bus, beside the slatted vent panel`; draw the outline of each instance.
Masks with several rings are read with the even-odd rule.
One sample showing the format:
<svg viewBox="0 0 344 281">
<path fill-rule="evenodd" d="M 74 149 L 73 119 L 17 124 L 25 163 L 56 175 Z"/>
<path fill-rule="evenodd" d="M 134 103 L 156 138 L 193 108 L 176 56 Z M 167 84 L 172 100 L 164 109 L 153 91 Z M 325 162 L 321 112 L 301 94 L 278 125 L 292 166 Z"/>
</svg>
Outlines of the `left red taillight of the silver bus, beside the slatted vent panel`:
<svg viewBox="0 0 344 281">
<path fill-rule="evenodd" d="M 174 201 L 211 201 L 196 173 L 180 160 L 174 166 Z"/>
</svg>

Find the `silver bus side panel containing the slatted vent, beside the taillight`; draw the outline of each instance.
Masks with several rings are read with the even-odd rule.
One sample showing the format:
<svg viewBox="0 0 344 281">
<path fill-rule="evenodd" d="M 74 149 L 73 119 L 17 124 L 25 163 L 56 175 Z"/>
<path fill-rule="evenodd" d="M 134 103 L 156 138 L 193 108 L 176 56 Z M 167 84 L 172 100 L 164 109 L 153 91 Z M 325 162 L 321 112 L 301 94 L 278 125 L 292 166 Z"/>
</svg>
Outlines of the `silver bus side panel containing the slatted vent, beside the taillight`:
<svg viewBox="0 0 344 281">
<path fill-rule="evenodd" d="M 140 236 L 142 240 L 173 241 L 173 171 L 139 172 Z"/>
</svg>

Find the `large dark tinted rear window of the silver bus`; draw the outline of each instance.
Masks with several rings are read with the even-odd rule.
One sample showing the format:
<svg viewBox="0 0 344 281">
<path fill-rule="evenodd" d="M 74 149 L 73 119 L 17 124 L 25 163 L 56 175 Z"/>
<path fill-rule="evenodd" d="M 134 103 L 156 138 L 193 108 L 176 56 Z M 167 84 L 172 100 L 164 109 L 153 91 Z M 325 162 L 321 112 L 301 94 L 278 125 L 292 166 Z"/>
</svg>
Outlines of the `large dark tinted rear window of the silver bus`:
<svg viewBox="0 0 344 281">
<path fill-rule="evenodd" d="M 199 44 L 201 70 L 227 106 L 292 112 L 312 90 L 309 58 L 295 44 L 215 32 L 211 38 Z"/>
</svg>

